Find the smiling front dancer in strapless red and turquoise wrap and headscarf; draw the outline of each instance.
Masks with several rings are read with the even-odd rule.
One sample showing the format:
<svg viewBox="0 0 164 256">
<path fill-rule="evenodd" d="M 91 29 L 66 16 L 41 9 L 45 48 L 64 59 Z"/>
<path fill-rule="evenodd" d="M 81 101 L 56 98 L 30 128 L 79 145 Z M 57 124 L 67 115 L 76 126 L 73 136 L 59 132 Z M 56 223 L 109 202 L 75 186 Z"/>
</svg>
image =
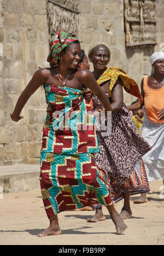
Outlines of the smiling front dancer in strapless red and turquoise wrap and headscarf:
<svg viewBox="0 0 164 256">
<path fill-rule="evenodd" d="M 89 70 L 78 69 L 80 43 L 73 33 L 62 30 L 50 42 L 50 68 L 39 69 L 17 100 L 11 119 L 19 121 L 30 96 L 44 85 L 47 116 L 43 126 L 40 157 L 40 186 L 48 229 L 38 236 L 60 235 L 57 214 L 95 202 L 106 205 L 116 232 L 126 229 L 99 173 L 95 119 L 84 97 L 87 86 L 107 111 L 110 103 Z"/>
</svg>

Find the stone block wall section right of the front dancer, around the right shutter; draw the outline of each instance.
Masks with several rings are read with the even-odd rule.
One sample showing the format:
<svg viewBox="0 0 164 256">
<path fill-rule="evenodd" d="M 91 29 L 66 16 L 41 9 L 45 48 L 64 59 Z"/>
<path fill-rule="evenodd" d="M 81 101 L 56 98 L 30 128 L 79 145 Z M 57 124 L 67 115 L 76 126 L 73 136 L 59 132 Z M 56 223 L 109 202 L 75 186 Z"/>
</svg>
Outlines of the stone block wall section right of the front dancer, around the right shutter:
<svg viewBox="0 0 164 256">
<path fill-rule="evenodd" d="M 93 42 L 103 41 L 112 51 L 108 66 L 117 66 L 127 72 L 139 85 L 143 76 L 150 74 L 149 57 L 160 51 L 163 35 L 163 0 L 156 0 L 157 45 L 149 48 L 126 48 L 124 30 L 124 0 L 80 0 L 79 38 L 85 52 Z M 163 45 L 164 47 L 164 45 Z M 92 69 L 92 68 L 91 68 Z M 124 92 L 124 102 L 135 98 Z"/>
</svg>

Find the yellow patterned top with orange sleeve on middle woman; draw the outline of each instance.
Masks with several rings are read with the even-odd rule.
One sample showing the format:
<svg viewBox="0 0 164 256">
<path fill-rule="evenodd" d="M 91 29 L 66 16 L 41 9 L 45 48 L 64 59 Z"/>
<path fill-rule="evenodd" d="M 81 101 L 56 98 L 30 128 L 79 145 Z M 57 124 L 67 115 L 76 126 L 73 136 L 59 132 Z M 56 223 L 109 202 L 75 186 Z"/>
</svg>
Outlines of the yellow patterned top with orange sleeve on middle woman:
<svg viewBox="0 0 164 256">
<path fill-rule="evenodd" d="M 109 93 L 108 96 L 112 96 L 112 89 L 115 85 L 115 82 L 118 80 L 118 77 L 122 80 L 123 87 L 126 92 L 132 94 L 133 96 L 140 98 L 140 103 L 142 102 L 143 98 L 140 94 L 139 88 L 137 83 L 130 77 L 128 76 L 125 71 L 119 68 L 107 68 L 104 73 L 99 77 L 97 80 L 98 84 L 101 85 L 103 82 L 106 82 L 110 80 L 110 85 L 109 85 Z M 139 103 L 139 104 L 140 104 Z"/>
</svg>

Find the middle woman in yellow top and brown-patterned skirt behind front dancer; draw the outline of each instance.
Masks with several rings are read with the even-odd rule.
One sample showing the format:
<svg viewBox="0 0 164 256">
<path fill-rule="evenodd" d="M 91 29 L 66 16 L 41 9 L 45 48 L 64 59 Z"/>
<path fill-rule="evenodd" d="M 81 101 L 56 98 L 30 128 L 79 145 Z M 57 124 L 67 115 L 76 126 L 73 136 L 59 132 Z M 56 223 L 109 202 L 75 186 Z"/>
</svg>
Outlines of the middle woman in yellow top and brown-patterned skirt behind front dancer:
<svg viewBox="0 0 164 256">
<path fill-rule="evenodd" d="M 123 88 L 126 92 L 140 98 L 142 102 L 138 85 L 123 70 L 107 68 L 110 54 L 109 47 L 101 42 L 93 44 L 89 49 L 89 60 L 94 68 L 93 75 L 109 97 L 112 107 L 110 134 L 104 135 L 102 126 L 96 131 L 99 153 L 95 154 L 95 158 L 113 202 L 116 203 L 124 198 L 120 216 L 122 219 L 127 219 L 132 215 L 130 195 L 140 193 L 140 191 L 149 191 L 142 157 L 150 150 L 150 146 L 140 136 L 130 111 L 123 103 Z M 99 108 L 100 102 L 94 93 L 92 102 L 93 110 Z M 106 123 L 106 127 L 110 126 L 107 119 L 103 123 Z M 99 220 L 105 220 L 105 216 L 102 212 L 102 205 L 97 204 L 95 216 L 87 221 L 97 222 Z"/>
</svg>

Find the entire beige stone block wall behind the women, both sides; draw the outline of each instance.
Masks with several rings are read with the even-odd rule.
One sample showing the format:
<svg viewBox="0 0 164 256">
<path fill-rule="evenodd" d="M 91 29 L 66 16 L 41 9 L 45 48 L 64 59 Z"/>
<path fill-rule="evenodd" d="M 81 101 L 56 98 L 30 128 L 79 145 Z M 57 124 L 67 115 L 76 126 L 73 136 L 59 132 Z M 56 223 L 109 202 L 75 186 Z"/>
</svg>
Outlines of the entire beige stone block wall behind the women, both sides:
<svg viewBox="0 0 164 256">
<path fill-rule="evenodd" d="M 0 165 L 39 163 L 46 114 L 43 88 L 22 110 L 24 119 L 14 123 L 9 113 L 38 66 L 48 66 L 45 3 L 46 0 L 0 0 Z M 87 53 L 91 43 L 106 42 L 112 51 L 109 65 L 125 70 L 140 85 L 142 77 L 150 74 L 151 53 L 159 51 L 164 43 L 163 10 L 163 0 L 156 0 L 157 45 L 130 49 L 125 47 L 123 0 L 79 0 L 81 48 Z M 124 93 L 126 104 L 133 99 Z"/>
</svg>

